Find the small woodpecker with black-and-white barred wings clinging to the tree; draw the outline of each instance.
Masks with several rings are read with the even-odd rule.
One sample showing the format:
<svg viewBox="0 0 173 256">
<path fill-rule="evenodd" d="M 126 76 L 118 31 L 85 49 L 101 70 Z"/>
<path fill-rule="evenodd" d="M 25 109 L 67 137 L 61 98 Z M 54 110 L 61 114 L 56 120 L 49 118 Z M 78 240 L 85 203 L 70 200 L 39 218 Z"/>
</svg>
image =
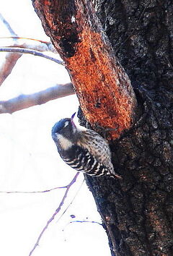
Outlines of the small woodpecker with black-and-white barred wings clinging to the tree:
<svg viewBox="0 0 173 256">
<path fill-rule="evenodd" d="M 122 179 L 112 166 L 107 140 L 92 129 L 76 127 L 74 115 L 58 121 L 52 128 L 52 137 L 63 161 L 76 171 Z"/>
</svg>

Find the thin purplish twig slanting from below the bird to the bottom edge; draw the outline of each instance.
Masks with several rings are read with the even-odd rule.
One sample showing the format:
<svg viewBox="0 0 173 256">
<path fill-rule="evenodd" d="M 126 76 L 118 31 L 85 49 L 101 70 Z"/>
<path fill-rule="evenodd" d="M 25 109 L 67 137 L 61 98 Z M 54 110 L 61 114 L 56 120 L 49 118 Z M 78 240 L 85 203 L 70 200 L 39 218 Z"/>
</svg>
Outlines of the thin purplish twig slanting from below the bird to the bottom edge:
<svg viewBox="0 0 173 256">
<path fill-rule="evenodd" d="M 32 255 L 32 253 L 35 251 L 36 247 L 38 246 L 40 239 L 42 238 L 43 234 L 45 233 L 45 230 L 48 229 L 49 224 L 54 220 L 54 218 L 56 217 L 56 215 L 59 213 L 59 211 L 61 210 L 61 207 L 63 206 L 63 203 L 66 200 L 66 197 L 68 195 L 68 191 L 71 188 L 71 186 L 74 184 L 74 182 L 76 182 L 77 177 L 79 176 L 79 172 L 76 173 L 76 175 L 74 176 L 74 179 L 72 179 L 72 181 L 66 186 L 66 192 L 63 195 L 63 199 L 61 200 L 58 208 L 56 209 L 55 213 L 53 213 L 53 216 L 51 216 L 51 218 L 48 220 L 48 222 L 46 223 L 45 227 L 43 228 L 43 230 L 41 231 L 40 235 L 37 238 L 37 242 L 35 243 L 33 249 L 30 251 L 30 255 Z"/>
</svg>

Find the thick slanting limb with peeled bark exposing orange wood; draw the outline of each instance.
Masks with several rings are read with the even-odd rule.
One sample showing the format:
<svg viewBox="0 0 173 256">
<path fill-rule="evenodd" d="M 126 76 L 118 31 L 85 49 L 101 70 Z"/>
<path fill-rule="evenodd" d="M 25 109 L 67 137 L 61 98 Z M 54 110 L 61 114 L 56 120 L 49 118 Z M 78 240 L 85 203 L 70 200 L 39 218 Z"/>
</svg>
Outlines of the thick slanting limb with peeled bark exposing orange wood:
<svg viewBox="0 0 173 256">
<path fill-rule="evenodd" d="M 119 137 L 133 123 L 136 97 L 89 1 L 33 0 L 35 9 L 66 64 L 81 109 L 94 127 Z"/>
</svg>

